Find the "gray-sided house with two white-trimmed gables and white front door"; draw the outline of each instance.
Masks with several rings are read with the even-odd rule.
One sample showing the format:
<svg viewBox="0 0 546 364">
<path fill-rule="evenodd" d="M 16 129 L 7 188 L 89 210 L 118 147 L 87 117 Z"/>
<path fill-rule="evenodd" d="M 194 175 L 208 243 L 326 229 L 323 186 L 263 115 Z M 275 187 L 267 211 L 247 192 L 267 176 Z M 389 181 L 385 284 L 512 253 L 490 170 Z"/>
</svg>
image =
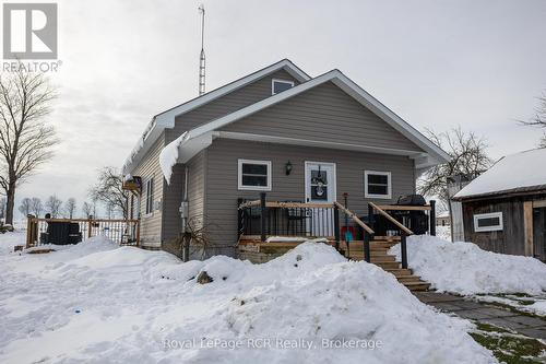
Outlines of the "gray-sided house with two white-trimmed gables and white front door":
<svg viewBox="0 0 546 364">
<path fill-rule="evenodd" d="M 214 254 L 234 255 L 239 199 L 348 193 L 352 211 L 366 214 L 369 201 L 415 193 L 418 175 L 447 158 L 341 71 L 311 78 L 284 59 L 154 116 L 123 172 L 142 179 L 130 211 L 143 246 L 178 236 L 186 199 Z"/>
</svg>

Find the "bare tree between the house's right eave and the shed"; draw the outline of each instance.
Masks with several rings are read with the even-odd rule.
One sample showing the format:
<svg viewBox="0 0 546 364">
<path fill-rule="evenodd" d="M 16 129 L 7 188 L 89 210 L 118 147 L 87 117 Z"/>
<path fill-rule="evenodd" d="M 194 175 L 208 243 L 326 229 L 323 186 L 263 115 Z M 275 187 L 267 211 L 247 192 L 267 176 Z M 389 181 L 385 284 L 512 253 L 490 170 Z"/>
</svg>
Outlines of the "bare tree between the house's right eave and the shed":
<svg viewBox="0 0 546 364">
<path fill-rule="evenodd" d="M 417 190 L 422 195 L 436 196 L 449 206 L 449 178 L 461 175 L 468 180 L 474 179 L 489 168 L 492 160 L 487 155 L 485 139 L 473 132 L 464 132 L 460 127 L 441 133 L 427 130 L 427 133 L 451 158 L 448 163 L 428 169 L 418 180 Z"/>
</svg>

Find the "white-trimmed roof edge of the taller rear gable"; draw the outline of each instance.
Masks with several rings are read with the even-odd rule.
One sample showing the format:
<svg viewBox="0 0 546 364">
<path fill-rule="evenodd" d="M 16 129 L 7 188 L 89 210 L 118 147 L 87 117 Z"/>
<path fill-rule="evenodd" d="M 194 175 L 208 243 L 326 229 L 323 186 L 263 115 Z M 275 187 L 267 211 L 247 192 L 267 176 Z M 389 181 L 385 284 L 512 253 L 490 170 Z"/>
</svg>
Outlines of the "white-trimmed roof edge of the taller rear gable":
<svg viewBox="0 0 546 364">
<path fill-rule="evenodd" d="M 133 148 L 131 154 L 126 160 L 123 164 L 123 172 L 127 173 L 128 172 L 127 169 L 133 167 L 135 164 L 140 162 L 140 160 L 150 150 L 152 144 L 157 141 L 157 138 L 159 138 L 159 136 L 166 128 L 170 129 L 175 127 L 175 118 L 177 116 L 191 111 L 192 109 L 205 105 L 218 97 L 222 97 L 230 92 L 241 89 L 261 78 L 264 78 L 280 70 L 285 70 L 286 72 L 288 72 L 288 74 L 294 77 L 299 82 L 306 82 L 311 79 L 306 72 L 304 72 L 300 68 L 294 64 L 290 60 L 283 59 L 271 66 L 262 68 L 261 70 L 250 73 L 244 78 L 233 81 L 222 87 L 215 89 L 199 97 L 192 98 L 186 103 L 169 108 L 165 111 L 162 111 L 155 115 L 150 121 L 150 124 L 146 126 L 144 133 L 142 134 L 141 138 L 139 138 L 136 145 Z"/>
</svg>

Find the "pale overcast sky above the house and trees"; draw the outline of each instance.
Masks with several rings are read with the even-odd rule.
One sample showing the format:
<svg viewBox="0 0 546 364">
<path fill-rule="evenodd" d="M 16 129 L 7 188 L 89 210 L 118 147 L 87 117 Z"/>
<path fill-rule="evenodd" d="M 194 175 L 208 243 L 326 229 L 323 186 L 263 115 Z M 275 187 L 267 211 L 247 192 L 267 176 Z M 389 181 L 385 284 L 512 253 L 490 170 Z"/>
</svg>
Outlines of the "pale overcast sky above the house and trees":
<svg viewBox="0 0 546 364">
<path fill-rule="evenodd" d="M 194 1 L 59 1 L 55 158 L 23 197 L 86 199 L 153 115 L 198 93 Z M 546 1 L 204 1 L 207 90 L 283 58 L 337 68 L 419 130 L 460 125 L 494 157 L 531 149 L 546 90 Z"/>
</svg>

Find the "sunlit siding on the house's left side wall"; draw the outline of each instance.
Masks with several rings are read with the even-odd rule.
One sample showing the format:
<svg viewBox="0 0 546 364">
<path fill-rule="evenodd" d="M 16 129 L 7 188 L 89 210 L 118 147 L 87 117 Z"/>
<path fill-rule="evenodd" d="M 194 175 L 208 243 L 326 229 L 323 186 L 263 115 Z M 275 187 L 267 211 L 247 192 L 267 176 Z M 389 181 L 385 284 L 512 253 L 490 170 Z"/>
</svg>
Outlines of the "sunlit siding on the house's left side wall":
<svg viewBox="0 0 546 364">
<path fill-rule="evenodd" d="M 154 201 L 163 199 L 163 173 L 159 166 L 159 153 L 165 146 L 164 134 L 152 145 L 142 162 L 132 172 L 133 176 L 142 177 L 142 196 L 140 201 L 141 243 L 159 244 L 162 240 L 162 209 L 146 214 L 146 183 L 154 178 Z"/>
</svg>

